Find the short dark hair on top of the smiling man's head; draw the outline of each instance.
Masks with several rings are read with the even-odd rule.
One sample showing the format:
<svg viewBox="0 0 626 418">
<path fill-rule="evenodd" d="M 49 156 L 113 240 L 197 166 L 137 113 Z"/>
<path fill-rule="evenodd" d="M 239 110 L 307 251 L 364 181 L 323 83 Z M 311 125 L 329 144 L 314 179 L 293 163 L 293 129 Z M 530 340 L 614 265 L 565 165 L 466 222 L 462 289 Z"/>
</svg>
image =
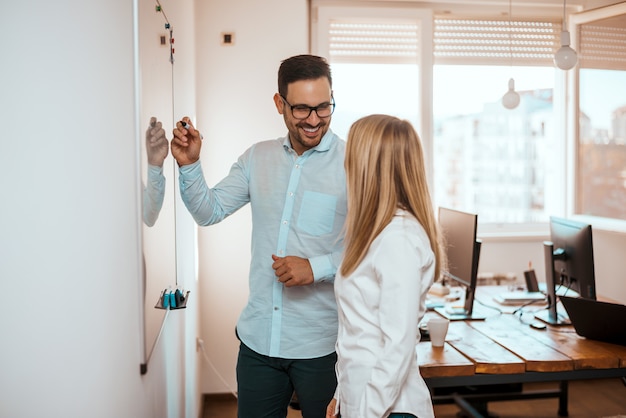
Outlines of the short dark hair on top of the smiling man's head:
<svg viewBox="0 0 626 418">
<path fill-rule="evenodd" d="M 321 77 L 326 77 L 332 88 L 333 79 L 326 59 L 316 55 L 296 55 L 287 58 L 278 69 L 278 93 L 287 97 L 289 84 L 300 80 L 317 80 Z"/>
</svg>

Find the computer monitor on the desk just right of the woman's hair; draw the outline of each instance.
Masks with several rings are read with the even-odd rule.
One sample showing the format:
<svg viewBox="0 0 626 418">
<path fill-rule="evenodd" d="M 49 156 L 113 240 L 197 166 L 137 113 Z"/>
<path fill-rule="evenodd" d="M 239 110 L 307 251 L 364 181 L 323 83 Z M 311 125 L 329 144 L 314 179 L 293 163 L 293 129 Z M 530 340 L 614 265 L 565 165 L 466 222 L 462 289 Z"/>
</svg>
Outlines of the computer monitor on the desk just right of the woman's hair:
<svg viewBox="0 0 626 418">
<path fill-rule="evenodd" d="M 439 208 L 439 226 L 445 241 L 448 266 L 443 281 L 465 289 L 462 307 L 438 307 L 435 310 L 450 320 L 485 319 L 474 312 L 480 241 L 476 239 L 478 215 L 449 208 Z"/>
</svg>

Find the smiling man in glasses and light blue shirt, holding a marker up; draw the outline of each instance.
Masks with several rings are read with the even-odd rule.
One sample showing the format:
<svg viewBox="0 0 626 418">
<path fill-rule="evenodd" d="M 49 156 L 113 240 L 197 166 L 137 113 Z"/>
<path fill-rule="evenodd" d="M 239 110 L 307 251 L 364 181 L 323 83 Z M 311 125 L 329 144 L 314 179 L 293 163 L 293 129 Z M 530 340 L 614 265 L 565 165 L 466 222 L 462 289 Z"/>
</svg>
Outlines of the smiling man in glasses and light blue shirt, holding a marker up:
<svg viewBox="0 0 626 418">
<path fill-rule="evenodd" d="M 274 103 L 288 135 L 251 146 L 213 188 L 189 118 L 177 123 L 171 148 L 183 202 L 199 225 L 251 205 L 250 296 L 237 323 L 239 417 L 283 418 L 295 390 L 303 417 L 323 418 L 336 385 L 333 281 L 346 216 L 345 142 L 329 129 L 335 103 L 326 60 L 284 60 Z"/>
</svg>

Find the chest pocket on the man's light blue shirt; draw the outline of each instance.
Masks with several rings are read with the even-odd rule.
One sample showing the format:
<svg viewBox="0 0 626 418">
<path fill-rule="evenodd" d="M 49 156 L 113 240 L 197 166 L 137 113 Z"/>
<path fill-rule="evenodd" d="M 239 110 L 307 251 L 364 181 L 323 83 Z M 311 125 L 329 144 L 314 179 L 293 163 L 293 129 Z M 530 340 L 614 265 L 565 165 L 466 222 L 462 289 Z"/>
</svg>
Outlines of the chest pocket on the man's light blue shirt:
<svg viewBox="0 0 626 418">
<path fill-rule="evenodd" d="M 305 191 L 298 214 L 298 228 L 315 236 L 332 232 L 336 207 L 336 196 Z"/>
</svg>

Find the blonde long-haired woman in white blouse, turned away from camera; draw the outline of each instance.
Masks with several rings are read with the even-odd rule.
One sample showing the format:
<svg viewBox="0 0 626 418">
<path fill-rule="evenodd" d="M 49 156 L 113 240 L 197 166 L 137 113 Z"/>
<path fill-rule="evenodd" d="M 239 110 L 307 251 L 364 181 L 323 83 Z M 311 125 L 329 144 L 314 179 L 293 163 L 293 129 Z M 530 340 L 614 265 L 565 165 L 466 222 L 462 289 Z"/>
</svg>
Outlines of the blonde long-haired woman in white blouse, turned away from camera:
<svg viewBox="0 0 626 418">
<path fill-rule="evenodd" d="M 344 165 L 338 385 L 326 417 L 433 417 L 415 345 L 444 252 L 419 136 L 393 116 L 364 117 L 350 128 Z"/>
</svg>

